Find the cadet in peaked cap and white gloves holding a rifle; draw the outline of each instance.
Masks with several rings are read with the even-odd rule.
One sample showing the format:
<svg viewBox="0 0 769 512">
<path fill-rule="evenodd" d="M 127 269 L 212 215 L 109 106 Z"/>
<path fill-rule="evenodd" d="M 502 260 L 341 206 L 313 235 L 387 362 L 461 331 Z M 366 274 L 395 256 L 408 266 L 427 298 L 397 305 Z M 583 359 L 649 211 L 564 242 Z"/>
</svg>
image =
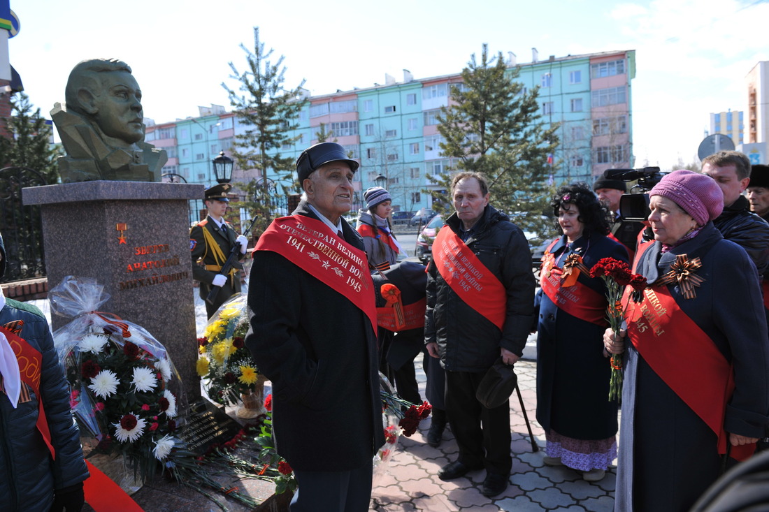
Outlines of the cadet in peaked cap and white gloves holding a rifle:
<svg viewBox="0 0 769 512">
<path fill-rule="evenodd" d="M 208 208 L 208 215 L 190 230 L 192 277 L 200 281 L 201 298 L 205 301 L 211 286 L 221 287 L 214 303 L 205 303 L 208 318 L 211 318 L 228 298 L 241 291 L 241 264 L 238 263 L 232 268 L 228 275 L 221 274 L 221 267 L 235 244 L 240 245 L 238 261 L 243 259 L 248 247 L 248 238 L 235 233 L 232 224 L 225 221 L 225 211 L 230 202 L 227 192 L 231 188 L 229 183 L 220 183 L 205 191 L 205 208 Z"/>
</svg>

